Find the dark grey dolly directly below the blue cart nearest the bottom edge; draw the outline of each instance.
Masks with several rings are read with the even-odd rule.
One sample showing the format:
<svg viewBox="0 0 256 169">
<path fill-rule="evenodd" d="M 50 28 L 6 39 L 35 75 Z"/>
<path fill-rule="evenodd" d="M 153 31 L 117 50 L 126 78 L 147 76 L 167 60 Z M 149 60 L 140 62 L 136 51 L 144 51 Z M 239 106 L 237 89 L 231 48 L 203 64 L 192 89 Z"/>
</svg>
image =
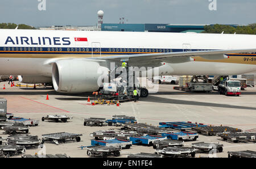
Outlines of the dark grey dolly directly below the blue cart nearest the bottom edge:
<svg viewBox="0 0 256 169">
<path fill-rule="evenodd" d="M 90 157 L 101 156 L 108 157 L 108 155 L 114 154 L 115 157 L 120 156 L 120 147 L 113 146 L 87 146 L 87 155 Z"/>
</svg>

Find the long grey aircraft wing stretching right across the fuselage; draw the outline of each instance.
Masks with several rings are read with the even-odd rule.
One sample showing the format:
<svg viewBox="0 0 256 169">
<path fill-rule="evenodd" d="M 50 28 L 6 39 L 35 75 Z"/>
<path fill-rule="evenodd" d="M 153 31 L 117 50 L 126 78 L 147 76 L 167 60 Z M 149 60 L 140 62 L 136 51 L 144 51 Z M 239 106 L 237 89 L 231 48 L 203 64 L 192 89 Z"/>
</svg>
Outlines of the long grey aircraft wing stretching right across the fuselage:
<svg viewBox="0 0 256 169">
<path fill-rule="evenodd" d="M 195 61 L 193 57 L 202 57 L 207 60 L 221 60 L 229 58 L 229 54 L 255 53 L 256 49 L 238 50 L 204 50 L 189 52 L 170 52 L 170 53 L 148 53 L 148 54 L 127 54 L 108 57 L 90 57 L 89 60 L 109 61 L 115 64 L 122 64 L 122 61 L 129 61 L 129 66 L 160 66 L 162 62 L 178 64 L 182 62 Z"/>
</svg>

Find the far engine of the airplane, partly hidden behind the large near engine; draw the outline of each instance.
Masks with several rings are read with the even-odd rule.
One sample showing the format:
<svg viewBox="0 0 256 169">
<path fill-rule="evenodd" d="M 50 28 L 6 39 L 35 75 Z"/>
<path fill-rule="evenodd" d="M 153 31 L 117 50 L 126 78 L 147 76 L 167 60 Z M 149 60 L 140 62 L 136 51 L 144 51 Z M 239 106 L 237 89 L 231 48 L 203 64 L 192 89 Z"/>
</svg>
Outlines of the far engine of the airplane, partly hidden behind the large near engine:
<svg viewBox="0 0 256 169">
<path fill-rule="evenodd" d="M 21 83 L 51 83 L 52 77 L 44 75 L 18 75 L 19 82 Z"/>
</svg>

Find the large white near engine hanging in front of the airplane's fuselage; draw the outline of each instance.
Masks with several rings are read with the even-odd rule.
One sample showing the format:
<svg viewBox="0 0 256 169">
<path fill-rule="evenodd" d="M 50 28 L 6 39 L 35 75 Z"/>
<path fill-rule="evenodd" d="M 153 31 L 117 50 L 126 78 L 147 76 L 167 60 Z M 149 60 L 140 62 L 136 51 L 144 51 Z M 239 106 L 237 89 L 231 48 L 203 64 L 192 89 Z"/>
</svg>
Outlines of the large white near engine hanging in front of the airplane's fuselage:
<svg viewBox="0 0 256 169">
<path fill-rule="evenodd" d="M 57 92 L 79 93 L 98 90 L 109 69 L 81 59 L 58 60 L 52 67 L 52 83 Z"/>
</svg>

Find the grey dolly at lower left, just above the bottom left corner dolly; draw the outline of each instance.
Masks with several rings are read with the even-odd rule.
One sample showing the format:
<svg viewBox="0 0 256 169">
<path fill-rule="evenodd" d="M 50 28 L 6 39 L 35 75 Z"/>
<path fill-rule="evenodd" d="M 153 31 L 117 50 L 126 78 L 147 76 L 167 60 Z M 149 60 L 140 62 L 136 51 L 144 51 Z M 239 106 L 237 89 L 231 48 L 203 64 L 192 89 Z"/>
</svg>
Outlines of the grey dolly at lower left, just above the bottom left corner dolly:
<svg viewBox="0 0 256 169">
<path fill-rule="evenodd" d="M 38 136 L 18 134 L 18 135 L 14 135 L 14 136 L 9 136 L 7 138 L 7 143 L 9 145 L 33 147 L 33 146 L 40 145 L 41 140 L 38 138 Z"/>
</svg>

